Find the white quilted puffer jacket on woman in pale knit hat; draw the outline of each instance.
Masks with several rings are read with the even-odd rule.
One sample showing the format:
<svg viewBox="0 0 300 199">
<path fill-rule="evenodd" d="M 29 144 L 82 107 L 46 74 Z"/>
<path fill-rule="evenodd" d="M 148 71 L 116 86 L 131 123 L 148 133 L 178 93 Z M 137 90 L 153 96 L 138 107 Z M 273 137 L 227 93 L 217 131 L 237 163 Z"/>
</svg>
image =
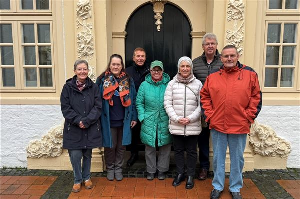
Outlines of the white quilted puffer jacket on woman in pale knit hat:
<svg viewBox="0 0 300 199">
<path fill-rule="evenodd" d="M 202 83 L 195 77 L 185 86 L 176 78 L 171 80 L 164 93 L 164 108 L 169 116 L 169 131 L 175 135 L 199 135 L 201 127 L 200 90 Z M 191 91 L 192 90 L 192 91 Z M 188 125 L 179 124 L 180 118 L 188 117 Z"/>
</svg>

